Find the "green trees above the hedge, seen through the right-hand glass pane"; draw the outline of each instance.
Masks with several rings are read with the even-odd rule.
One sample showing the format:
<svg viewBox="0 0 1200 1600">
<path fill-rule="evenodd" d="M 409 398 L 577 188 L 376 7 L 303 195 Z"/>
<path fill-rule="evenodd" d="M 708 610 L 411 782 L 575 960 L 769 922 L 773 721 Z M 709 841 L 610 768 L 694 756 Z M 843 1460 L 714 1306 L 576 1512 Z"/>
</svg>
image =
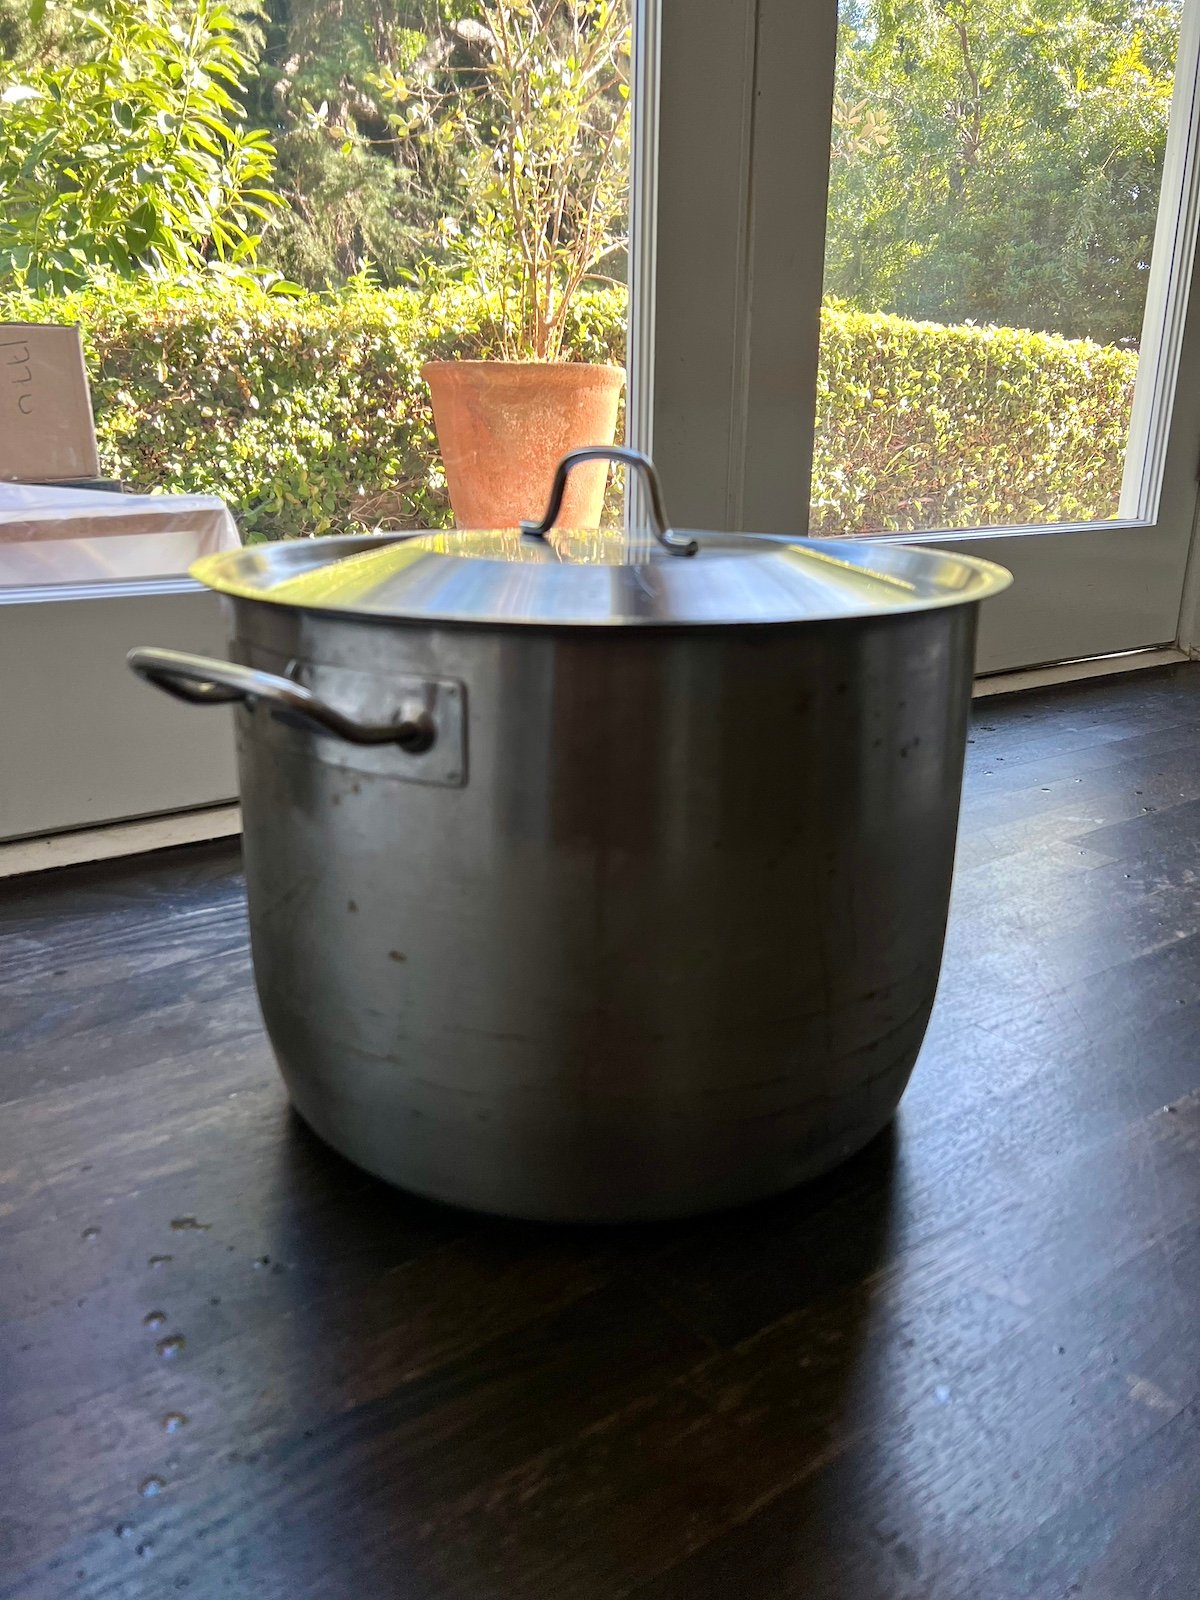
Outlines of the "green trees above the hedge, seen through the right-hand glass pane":
<svg viewBox="0 0 1200 1600">
<path fill-rule="evenodd" d="M 856 0 L 840 29 L 827 291 L 1136 342 L 1176 0 Z"/>
</svg>

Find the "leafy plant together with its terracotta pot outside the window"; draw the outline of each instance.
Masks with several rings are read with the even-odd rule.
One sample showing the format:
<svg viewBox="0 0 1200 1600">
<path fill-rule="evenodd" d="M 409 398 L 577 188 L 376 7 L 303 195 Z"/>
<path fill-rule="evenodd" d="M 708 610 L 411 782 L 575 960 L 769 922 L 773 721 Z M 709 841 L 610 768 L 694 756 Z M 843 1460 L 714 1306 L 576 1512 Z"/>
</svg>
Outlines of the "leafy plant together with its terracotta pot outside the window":
<svg viewBox="0 0 1200 1600">
<path fill-rule="evenodd" d="M 573 296 L 624 245 L 629 24 L 618 0 L 482 0 L 478 16 L 450 112 L 474 205 L 446 222 L 443 270 L 480 294 L 499 355 L 422 376 L 456 522 L 502 528 L 541 512 L 568 450 L 616 432 L 624 371 L 565 360 L 563 338 Z M 606 477 L 571 475 L 563 525 L 598 525 Z"/>
</svg>

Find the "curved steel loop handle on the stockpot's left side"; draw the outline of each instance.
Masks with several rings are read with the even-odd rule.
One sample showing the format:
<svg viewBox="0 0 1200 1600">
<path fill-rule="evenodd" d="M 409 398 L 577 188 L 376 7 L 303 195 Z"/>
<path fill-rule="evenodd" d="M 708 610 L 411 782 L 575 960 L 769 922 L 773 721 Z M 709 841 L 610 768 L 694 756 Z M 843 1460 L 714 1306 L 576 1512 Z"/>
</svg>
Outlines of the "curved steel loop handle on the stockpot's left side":
<svg viewBox="0 0 1200 1600">
<path fill-rule="evenodd" d="M 326 706 L 302 683 L 293 683 L 291 678 L 282 678 L 274 672 L 259 672 L 258 667 L 150 646 L 131 650 L 126 661 L 139 678 L 190 706 L 230 702 L 250 709 L 266 706 L 280 722 L 290 722 L 312 733 L 331 733 L 350 744 L 398 744 L 410 755 L 424 754 L 437 739 L 434 718 L 416 701 L 400 707 L 397 722 L 355 722 Z"/>
</svg>

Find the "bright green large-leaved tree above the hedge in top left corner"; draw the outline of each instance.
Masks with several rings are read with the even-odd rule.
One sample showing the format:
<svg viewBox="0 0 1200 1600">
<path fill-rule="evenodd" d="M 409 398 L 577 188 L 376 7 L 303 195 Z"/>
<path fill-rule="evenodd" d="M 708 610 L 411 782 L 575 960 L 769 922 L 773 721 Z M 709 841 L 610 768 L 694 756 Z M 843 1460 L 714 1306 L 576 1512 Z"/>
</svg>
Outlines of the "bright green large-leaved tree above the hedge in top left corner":
<svg viewBox="0 0 1200 1600">
<path fill-rule="evenodd" d="M 35 10 L 35 21 L 37 11 Z M 88 0 L 67 59 L 46 51 L 0 91 L 0 274 L 62 291 L 245 267 L 275 206 L 274 147 L 237 99 L 253 8 Z"/>
</svg>

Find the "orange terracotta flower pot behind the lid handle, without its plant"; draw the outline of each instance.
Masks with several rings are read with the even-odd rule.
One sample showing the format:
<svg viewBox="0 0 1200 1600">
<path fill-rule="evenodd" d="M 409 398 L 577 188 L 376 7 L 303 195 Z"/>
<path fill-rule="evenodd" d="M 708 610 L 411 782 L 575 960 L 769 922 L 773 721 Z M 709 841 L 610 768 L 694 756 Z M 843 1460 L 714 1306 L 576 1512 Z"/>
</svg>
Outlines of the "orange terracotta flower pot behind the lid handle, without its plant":
<svg viewBox="0 0 1200 1600">
<path fill-rule="evenodd" d="M 421 376 L 459 528 L 515 528 L 541 517 L 568 450 L 611 445 L 626 374 L 578 362 L 427 362 Z M 598 528 L 608 464 L 566 482 L 558 525 Z"/>
</svg>

